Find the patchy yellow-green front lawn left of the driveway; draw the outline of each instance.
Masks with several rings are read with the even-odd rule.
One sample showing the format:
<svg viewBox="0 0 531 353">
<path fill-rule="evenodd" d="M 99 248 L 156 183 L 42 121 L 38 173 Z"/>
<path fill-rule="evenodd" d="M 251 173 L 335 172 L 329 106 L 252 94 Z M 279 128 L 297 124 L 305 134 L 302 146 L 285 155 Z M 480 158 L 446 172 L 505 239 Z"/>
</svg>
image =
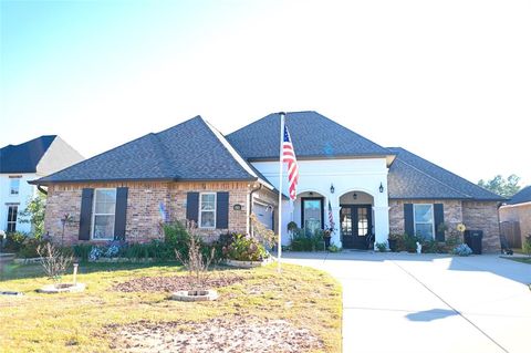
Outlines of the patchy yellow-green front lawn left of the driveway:
<svg viewBox="0 0 531 353">
<path fill-rule="evenodd" d="M 175 263 L 82 263 L 80 271 L 79 281 L 87 284 L 84 292 L 40 294 L 35 289 L 50 280 L 39 266 L 3 268 L 0 290 L 24 295 L 0 295 L 0 352 L 110 352 L 113 324 L 200 322 L 220 316 L 238 320 L 242 314 L 287 320 L 309 329 L 323 342 L 324 352 L 341 352 L 341 287 L 317 270 L 290 264 L 283 264 L 281 274 L 274 264 L 225 270 L 243 281 L 218 289 L 217 301 L 200 303 L 170 301 L 164 292 L 112 289 L 138 277 L 186 274 Z"/>
</svg>

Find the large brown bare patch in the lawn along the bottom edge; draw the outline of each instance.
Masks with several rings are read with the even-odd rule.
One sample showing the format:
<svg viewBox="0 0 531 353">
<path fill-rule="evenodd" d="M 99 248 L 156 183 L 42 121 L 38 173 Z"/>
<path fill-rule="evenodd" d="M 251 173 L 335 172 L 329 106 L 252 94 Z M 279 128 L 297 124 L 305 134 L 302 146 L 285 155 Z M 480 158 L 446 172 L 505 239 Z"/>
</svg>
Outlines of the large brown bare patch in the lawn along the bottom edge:
<svg viewBox="0 0 531 353">
<path fill-rule="evenodd" d="M 205 322 L 139 321 L 113 325 L 112 349 L 121 352 L 308 352 L 323 343 L 308 329 L 285 320 L 222 318 Z"/>
</svg>

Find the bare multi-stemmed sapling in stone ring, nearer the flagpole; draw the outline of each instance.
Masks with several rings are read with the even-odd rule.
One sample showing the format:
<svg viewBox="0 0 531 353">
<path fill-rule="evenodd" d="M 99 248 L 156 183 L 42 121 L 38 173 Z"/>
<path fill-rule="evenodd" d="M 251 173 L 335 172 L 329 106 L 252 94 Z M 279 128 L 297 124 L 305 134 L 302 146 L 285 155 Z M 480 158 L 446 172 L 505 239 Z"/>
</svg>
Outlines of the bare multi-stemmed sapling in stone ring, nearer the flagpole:
<svg viewBox="0 0 531 353">
<path fill-rule="evenodd" d="M 190 282 L 190 290 L 206 289 L 208 281 L 208 268 L 214 260 L 216 249 L 212 247 L 209 256 L 201 253 L 201 246 L 197 235 L 197 227 L 194 221 L 187 221 L 186 229 L 189 233 L 188 240 L 188 258 L 183 256 L 175 249 L 175 256 L 189 272 L 192 281 Z"/>
</svg>

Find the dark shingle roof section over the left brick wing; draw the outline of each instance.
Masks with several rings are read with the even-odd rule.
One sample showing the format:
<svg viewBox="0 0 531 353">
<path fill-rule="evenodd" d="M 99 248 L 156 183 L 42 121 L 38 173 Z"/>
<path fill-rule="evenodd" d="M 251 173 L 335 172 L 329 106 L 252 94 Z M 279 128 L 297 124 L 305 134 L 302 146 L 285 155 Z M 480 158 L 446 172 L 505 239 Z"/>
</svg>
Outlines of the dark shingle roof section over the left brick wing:
<svg viewBox="0 0 531 353">
<path fill-rule="evenodd" d="M 200 116 L 148 134 L 35 184 L 93 180 L 256 180 L 223 136 Z"/>
</svg>

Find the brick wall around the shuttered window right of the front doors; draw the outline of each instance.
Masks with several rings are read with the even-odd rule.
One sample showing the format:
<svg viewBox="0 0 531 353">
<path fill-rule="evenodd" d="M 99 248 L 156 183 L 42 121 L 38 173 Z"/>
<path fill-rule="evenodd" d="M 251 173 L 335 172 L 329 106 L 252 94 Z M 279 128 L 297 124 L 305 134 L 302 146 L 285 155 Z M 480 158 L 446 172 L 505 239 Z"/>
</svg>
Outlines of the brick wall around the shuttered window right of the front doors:
<svg viewBox="0 0 531 353">
<path fill-rule="evenodd" d="M 450 229 L 462 222 L 462 207 L 460 200 L 389 200 L 389 232 L 404 233 L 404 204 L 442 204 L 445 224 Z"/>
</svg>

